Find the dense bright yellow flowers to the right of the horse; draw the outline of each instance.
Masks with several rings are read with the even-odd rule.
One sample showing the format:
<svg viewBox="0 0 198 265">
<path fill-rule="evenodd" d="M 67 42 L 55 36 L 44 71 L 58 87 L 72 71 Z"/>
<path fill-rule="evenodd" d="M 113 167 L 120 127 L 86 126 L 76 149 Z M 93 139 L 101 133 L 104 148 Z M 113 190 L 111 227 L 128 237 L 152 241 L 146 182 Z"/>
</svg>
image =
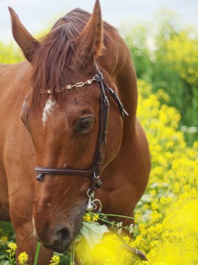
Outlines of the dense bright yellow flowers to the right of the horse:
<svg viewBox="0 0 198 265">
<path fill-rule="evenodd" d="M 160 104 L 163 91 L 139 82 L 138 116 L 149 138 L 152 170 L 147 192 L 135 211 L 138 225 L 132 243 L 148 253 L 151 264 L 198 263 L 198 142 L 187 147 L 173 107 Z"/>
</svg>

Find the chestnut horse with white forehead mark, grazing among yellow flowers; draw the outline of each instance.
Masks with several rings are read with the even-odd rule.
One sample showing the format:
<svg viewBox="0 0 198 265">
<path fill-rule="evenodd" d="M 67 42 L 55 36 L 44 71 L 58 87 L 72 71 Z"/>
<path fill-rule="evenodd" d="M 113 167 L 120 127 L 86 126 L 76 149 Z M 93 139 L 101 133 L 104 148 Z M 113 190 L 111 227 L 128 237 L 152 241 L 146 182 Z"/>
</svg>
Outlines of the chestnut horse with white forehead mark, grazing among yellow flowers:
<svg viewBox="0 0 198 265">
<path fill-rule="evenodd" d="M 38 264 L 44 265 L 54 250 L 67 250 L 78 232 L 90 179 L 57 173 L 36 181 L 34 168 L 85 170 L 92 165 L 99 135 L 99 84 L 92 80 L 65 88 L 92 79 L 98 72 L 95 61 L 129 112 L 122 118 L 106 91 L 110 108 L 107 144 L 102 146 L 103 185 L 95 192 L 104 213 L 133 216 L 149 178 L 149 149 L 136 118 L 131 54 L 116 29 L 102 21 L 98 0 L 92 15 L 72 10 L 40 41 L 9 10 L 13 36 L 27 61 L 0 65 L 0 218 L 11 220 L 17 255 L 26 251 L 29 264 L 36 239 L 42 242 Z"/>
</svg>

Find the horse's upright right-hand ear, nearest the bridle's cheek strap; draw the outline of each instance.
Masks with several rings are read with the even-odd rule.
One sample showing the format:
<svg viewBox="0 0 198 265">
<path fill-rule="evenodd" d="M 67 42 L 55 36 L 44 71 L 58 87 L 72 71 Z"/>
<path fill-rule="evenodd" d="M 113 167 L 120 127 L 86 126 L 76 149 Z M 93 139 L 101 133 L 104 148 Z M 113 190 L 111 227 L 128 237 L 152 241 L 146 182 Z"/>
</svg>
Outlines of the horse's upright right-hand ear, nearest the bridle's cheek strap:
<svg viewBox="0 0 198 265">
<path fill-rule="evenodd" d="M 81 35 L 76 40 L 78 45 L 76 54 L 79 57 L 78 61 L 85 62 L 88 54 L 97 58 L 102 54 L 103 44 L 103 21 L 101 18 L 101 8 L 99 0 L 96 0 L 93 13 L 90 20 L 85 25 Z M 90 57 L 90 56 L 89 56 Z"/>
</svg>

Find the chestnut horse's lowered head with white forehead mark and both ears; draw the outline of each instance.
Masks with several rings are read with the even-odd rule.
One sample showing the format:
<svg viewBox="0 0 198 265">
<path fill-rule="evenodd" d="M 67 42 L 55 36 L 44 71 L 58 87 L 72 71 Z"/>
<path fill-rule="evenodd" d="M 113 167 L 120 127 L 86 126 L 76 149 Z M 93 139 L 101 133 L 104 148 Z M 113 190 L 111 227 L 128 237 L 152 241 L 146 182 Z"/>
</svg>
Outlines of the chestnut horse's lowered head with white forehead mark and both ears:
<svg viewBox="0 0 198 265">
<path fill-rule="evenodd" d="M 9 9 L 13 36 L 31 63 L 22 121 L 31 134 L 38 166 L 90 169 L 100 126 L 101 89 L 92 78 L 97 73 L 95 61 L 99 62 L 106 83 L 117 90 L 113 74 L 100 63 L 106 60 L 106 54 L 113 60 L 113 54 L 104 42 L 99 1 L 92 15 L 74 10 L 58 20 L 42 40 L 35 40 L 15 11 Z M 102 123 L 103 120 L 104 117 Z M 117 155 L 121 141 L 122 116 L 110 98 L 100 174 Z M 34 234 L 45 247 L 63 252 L 72 243 L 87 207 L 89 187 L 90 179 L 79 174 L 47 173 L 43 181 L 35 181 Z"/>
</svg>

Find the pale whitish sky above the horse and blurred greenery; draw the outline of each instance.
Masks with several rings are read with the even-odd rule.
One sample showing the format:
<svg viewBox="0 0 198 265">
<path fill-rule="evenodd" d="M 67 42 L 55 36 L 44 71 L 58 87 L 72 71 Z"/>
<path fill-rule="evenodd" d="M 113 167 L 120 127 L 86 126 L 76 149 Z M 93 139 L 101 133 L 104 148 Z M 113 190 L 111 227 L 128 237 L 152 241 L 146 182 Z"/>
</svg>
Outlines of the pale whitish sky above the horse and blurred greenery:
<svg viewBox="0 0 198 265">
<path fill-rule="evenodd" d="M 159 8 L 175 11 L 184 24 L 198 29 L 198 0 L 100 0 L 104 20 L 118 27 L 123 20 L 149 20 Z M 73 8 L 92 12 L 94 0 L 0 0 L 0 40 L 13 39 L 7 6 L 15 9 L 22 23 L 37 33 L 47 27 L 54 17 L 60 17 Z"/>
</svg>

